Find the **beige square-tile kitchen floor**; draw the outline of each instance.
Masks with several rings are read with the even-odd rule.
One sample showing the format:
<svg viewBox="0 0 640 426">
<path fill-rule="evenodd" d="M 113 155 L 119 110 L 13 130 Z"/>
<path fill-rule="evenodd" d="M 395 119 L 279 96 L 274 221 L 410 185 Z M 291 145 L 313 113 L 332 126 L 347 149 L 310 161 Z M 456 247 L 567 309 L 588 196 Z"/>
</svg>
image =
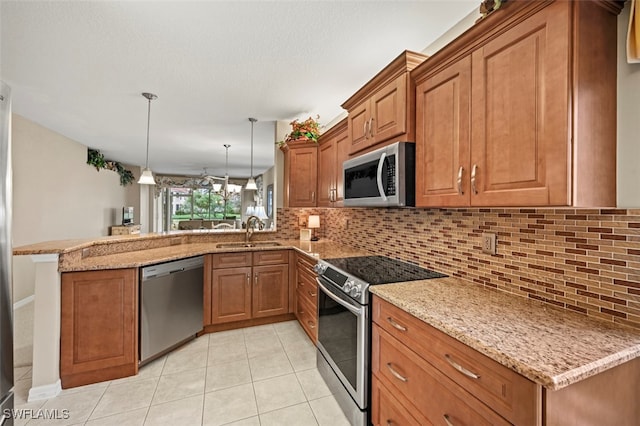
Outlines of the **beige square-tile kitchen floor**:
<svg viewBox="0 0 640 426">
<path fill-rule="evenodd" d="M 313 343 L 289 321 L 204 335 L 137 376 L 65 389 L 46 401 L 26 402 L 31 368 L 17 367 L 16 408 L 68 410 L 69 418 L 16 425 L 348 426 L 315 360 Z"/>
</svg>

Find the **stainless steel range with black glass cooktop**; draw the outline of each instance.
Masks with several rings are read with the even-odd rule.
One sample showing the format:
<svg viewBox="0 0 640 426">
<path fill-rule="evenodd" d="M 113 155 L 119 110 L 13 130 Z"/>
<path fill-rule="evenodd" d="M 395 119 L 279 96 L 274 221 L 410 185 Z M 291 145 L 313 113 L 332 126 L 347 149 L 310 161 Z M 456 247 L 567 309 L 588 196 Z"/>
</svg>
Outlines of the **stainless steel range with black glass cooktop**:
<svg viewBox="0 0 640 426">
<path fill-rule="evenodd" d="M 369 287 L 446 275 L 385 256 L 323 259 L 318 273 L 320 374 L 353 425 L 369 422 Z"/>
</svg>

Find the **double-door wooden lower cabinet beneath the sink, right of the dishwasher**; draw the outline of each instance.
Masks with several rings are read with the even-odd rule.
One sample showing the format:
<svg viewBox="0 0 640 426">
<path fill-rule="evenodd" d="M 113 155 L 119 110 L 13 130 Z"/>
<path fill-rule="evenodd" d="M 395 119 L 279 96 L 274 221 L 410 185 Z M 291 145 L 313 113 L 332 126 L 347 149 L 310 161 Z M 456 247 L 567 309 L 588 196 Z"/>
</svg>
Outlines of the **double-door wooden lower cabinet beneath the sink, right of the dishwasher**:
<svg viewBox="0 0 640 426">
<path fill-rule="evenodd" d="M 211 279 L 205 282 L 205 326 L 289 312 L 289 252 L 209 255 Z"/>
</svg>

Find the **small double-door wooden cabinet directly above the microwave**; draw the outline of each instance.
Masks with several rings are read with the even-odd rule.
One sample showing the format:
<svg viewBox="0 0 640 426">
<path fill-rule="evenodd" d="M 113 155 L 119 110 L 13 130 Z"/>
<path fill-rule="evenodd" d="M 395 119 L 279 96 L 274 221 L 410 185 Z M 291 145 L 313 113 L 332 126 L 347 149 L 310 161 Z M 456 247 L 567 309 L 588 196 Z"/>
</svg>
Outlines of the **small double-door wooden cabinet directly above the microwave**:
<svg viewBox="0 0 640 426">
<path fill-rule="evenodd" d="M 427 57 L 404 51 L 342 104 L 349 112 L 349 153 L 391 140 L 414 140 L 415 87 L 409 71 Z"/>
</svg>

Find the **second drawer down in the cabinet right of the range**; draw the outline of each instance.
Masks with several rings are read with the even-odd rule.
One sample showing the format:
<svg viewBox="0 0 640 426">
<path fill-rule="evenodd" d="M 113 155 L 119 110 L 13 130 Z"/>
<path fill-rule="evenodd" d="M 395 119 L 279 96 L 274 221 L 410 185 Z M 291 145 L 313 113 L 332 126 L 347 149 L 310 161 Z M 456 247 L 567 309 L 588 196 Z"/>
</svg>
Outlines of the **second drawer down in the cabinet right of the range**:
<svg viewBox="0 0 640 426">
<path fill-rule="evenodd" d="M 416 407 L 410 412 L 435 424 L 510 424 L 380 327 L 374 325 L 371 337 L 372 373 Z"/>
</svg>

